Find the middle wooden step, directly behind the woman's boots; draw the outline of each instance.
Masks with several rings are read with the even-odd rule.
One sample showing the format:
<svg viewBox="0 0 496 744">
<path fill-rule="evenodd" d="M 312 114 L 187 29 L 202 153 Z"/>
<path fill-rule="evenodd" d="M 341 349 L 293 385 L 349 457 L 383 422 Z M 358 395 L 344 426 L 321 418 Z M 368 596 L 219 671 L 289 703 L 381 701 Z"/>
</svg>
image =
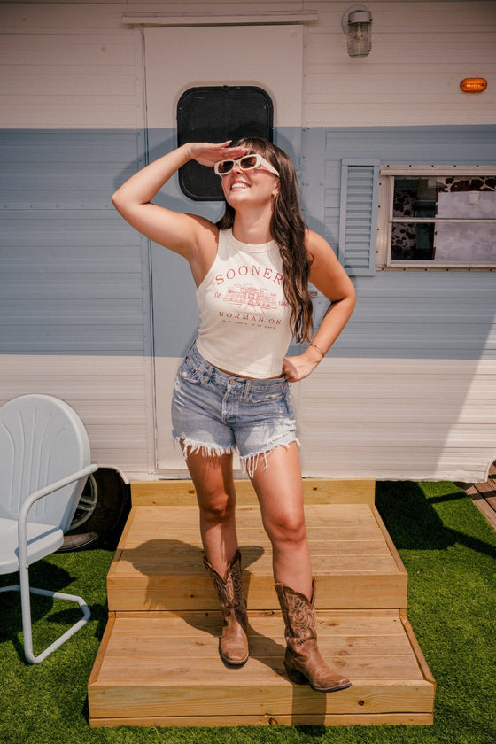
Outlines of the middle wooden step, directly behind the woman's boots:
<svg viewBox="0 0 496 744">
<path fill-rule="evenodd" d="M 236 515 L 248 606 L 276 609 L 260 508 L 240 505 Z M 306 530 L 319 608 L 406 608 L 407 571 L 373 504 L 307 504 Z M 107 577 L 109 609 L 217 609 L 202 559 L 198 507 L 133 507 Z"/>
</svg>

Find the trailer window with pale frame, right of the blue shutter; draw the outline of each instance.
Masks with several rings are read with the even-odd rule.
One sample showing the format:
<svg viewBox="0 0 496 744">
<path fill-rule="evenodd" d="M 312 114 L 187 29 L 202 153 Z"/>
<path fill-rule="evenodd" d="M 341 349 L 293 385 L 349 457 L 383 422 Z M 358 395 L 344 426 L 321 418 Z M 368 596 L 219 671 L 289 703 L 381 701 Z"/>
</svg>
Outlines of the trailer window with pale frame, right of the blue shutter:
<svg viewBox="0 0 496 744">
<path fill-rule="evenodd" d="M 382 169 L 380 267 L 496 267 L 496 171 Z"/>
</svg>

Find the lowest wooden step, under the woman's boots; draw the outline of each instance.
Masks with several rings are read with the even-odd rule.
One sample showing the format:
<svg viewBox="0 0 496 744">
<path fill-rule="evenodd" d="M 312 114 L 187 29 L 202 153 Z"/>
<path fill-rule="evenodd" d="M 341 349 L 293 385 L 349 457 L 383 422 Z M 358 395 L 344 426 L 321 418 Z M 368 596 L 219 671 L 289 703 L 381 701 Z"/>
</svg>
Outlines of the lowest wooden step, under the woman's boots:
<svg viewBox="0 0 496 744">
<path fill-rule="evenodd" d="M 218 655 L 219 612 L 111 614 L 89 679 L 89 725 L 432 723 L 435 683 L 398 613 L 319 611 L 322 655 L 353 686 L 332 694 L 291 684 L 279 611 L 251 611 L 251 657 Z"/>
</svg>

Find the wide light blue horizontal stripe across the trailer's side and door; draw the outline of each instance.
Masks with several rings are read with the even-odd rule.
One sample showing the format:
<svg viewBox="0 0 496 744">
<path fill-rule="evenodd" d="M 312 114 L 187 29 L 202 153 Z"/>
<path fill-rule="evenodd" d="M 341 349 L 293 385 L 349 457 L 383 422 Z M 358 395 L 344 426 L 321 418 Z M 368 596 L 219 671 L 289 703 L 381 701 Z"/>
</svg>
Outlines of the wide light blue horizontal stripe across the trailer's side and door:
<svg viewBox="0 0 496 744">
<path fill-rule="evenodd" d="M 174 131 L 146 135 L 151 159 L 174 147 Z M 359 302 L 333 353 L 493 358 L 493 273 L 372 267 L 377 164 L 496 163 L 496 128 L 281 128 L 275 139 L 296 161 L 309 226 L 336 252 L 343 252 L 345 207 L 361 220 L 359 252 L 352 259 L 345 251 L 344 258 Z M 0 133 L 3 353 L 149 353 L 151 320 L 143 298 L 150 294 L 154 267 L 147 242 L 111 202 L 112 191 L 145 163 L 145 142 L 145 133 L 135 130 Z M 350 166 L 367 171 L 366 188 L 360 187 L 354 205 L 341 185 Z M 167 205 L 213 219 L 221 208 L 191 202 L 175 183 Z M 160 257 L 167 263 L 167 283 L 155 283 L 153 292 L 167 295 L 170 310 L 155 317 L 155 351 L 179 357 L 195 334 L 194 287 L 182 259 L 165 250 Z M 315 305 L 319 316 L 322 298 Z"/>
</svg>

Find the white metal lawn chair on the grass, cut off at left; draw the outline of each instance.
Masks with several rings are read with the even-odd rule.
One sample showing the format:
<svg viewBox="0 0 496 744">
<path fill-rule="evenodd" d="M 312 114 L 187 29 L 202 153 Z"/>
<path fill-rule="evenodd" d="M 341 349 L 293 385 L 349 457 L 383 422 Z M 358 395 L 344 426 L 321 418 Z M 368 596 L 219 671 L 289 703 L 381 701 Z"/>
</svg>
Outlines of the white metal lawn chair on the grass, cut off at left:
<svg viewBox="0 0 496 744">
<path fill-rule="evenodd" d="M 42 662 L 88 622 L 88 605 L 74 594 L 35 589 L 29 566 L 64 542 L 89 473 L 89 438 L 80 417 L 63 400 L 21 395 L 0 407 L 0 574 L 19 571 L 24 653 Z M 30 593 L 77 602 L 82 618 L 35 656 Z M 0 615 L 1 617 L 1 615 Z"/>
</svg>

